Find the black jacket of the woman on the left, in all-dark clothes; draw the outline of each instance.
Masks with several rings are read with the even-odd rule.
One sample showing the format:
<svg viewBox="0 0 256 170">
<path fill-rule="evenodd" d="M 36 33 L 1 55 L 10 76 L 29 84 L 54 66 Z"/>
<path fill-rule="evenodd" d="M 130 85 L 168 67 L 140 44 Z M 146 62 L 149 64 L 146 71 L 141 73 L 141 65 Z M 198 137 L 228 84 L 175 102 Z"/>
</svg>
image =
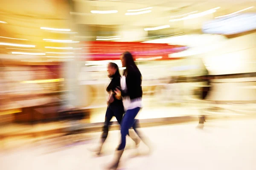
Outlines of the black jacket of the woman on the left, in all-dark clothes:
<svg viewBox="0 0 256 170">
<path fill-rule="evenodd" d="M 111 82 L 109 83 L 108 87 L 107 87 L 107 91 L 110 92 L 110 91 L 113 91 L 116 90 L 117 87 L 120 87 L 120 74 L 118 74 L 117 72 L 111 77 Z M 111 105 L 120 105 L 123 107 L 123 104 L 122 104 L 122 100 L 118 100 L 115 98 L 115 96 L 113 96 L 114 98 L 114 102 L 111 103 Z"/>
</svg>

